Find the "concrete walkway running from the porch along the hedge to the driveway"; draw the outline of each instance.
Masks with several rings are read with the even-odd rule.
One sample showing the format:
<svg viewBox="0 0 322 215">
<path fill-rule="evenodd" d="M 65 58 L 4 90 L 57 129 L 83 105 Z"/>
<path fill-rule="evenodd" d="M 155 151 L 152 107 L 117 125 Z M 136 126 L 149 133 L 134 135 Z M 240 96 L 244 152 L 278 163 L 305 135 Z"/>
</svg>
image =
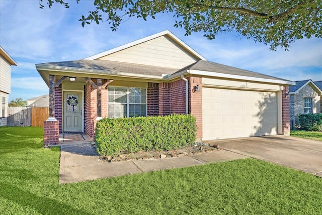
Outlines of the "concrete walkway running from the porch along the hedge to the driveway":
<svg viewBox="0 0 322 215">
<path fill-rule="evenodd" d="M 59 183 L 89 181 L 244 158 L 248 157 L 226 150 L 219 150 L 177 158 L 107 163 L 99 159 L 95 147 L 91 144 L 61 145 Z"/>
</svg>

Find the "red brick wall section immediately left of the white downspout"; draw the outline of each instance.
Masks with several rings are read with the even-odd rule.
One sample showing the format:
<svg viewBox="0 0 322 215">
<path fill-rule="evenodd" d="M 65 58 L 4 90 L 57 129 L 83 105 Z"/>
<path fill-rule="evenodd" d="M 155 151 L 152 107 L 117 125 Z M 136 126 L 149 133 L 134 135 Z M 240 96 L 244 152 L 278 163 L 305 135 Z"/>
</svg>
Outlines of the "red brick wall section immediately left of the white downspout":
<svg viewBox="0 0 322 215">
<path fill-rule="evenodd" d="M 171 83 L 171 113 L 186 113 L 186 82 L 178 80 Z"/>
</svg>

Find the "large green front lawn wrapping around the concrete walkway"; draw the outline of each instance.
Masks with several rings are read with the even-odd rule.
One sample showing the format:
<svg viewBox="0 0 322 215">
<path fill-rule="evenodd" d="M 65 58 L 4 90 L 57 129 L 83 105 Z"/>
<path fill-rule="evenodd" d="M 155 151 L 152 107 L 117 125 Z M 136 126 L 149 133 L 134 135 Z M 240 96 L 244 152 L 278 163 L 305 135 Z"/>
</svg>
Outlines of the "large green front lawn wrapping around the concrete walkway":
<svg viewBox="0 0 322 215">
<path fill-rule="evenodd" d="M 0 214 L 320 214 L 322 179 L 255 159 L 58 184 L 42 128 L 0 128 Z"/>
</svg>

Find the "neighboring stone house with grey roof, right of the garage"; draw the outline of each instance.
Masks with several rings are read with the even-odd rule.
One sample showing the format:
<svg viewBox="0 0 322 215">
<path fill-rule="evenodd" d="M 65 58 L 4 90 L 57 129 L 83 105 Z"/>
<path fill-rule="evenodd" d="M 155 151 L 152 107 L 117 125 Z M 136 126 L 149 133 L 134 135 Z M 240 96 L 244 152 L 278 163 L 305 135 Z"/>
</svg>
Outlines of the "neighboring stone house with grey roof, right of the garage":
<svg viewBox="0 0 322 215">
<path fill-rule="evenodd" d="M 297 115 L 302 113 L 321 112 L 321 82 L 312 80 L 296 81 L 294 86 L 289 88 L 290 96 L 290 122 L 291 128 L 298 124 Z"/>
</svg>

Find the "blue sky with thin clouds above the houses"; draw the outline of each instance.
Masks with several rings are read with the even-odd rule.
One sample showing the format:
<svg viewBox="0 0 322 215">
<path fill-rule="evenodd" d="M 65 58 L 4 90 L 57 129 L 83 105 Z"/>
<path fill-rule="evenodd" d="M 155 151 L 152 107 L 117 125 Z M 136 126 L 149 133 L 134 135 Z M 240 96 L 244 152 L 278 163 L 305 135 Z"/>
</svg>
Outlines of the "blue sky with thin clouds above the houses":
<svg viewBox="0 0 322 215">
<path fill-rule="evenodd" d="M 82 27 L 82 15 L 94 10 L 94 0 L 68 1 L 70 8 L 54 4 L 40 9 L 38 0 L 0 0 L 0 45 L 18 63 L 12 66 L 12 92 L 9 100 L 24 100 L 49 93 L 35 64 L 83 59 L 143 37 L 170 30 L 207 60 L 258 73 L 297 81 L 322 81 L 322 39 L 297 40 L 289 51 L 270 51 L 235 33 L 223 33 L 208 40 L 202 33 L 184 36 L 173 27 L 170 14 L 155 20 L 136 18 L 121 23 L 112 32 L 107 22 Z"/>
</svg>

